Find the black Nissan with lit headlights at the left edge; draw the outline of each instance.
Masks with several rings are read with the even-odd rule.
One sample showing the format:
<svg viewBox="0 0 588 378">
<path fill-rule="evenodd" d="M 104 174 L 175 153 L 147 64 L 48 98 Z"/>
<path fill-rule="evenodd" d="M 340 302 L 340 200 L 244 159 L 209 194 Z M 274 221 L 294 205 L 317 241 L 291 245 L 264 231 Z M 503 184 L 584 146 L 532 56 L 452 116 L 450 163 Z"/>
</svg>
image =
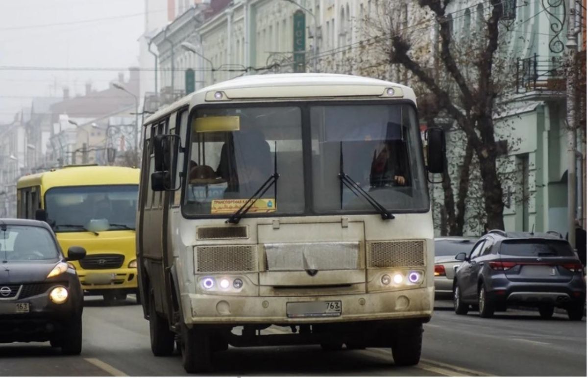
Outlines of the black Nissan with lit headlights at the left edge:
<svg viewBox="0 0 588 378">
<path fill-rule="evenodd" d="M 0 219 L 0 343 L 50 341 L 64 354 L 82 350 L 83 293 L 48 224 Z"/>
</svg>

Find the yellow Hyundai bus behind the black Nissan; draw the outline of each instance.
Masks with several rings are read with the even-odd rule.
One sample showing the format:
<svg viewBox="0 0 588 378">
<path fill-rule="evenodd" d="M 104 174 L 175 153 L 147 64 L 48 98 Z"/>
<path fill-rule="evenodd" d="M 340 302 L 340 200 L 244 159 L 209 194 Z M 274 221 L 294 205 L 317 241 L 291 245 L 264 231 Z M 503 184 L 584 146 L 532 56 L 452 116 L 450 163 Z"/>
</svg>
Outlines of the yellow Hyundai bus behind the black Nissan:
<svg viewBox="0 0 588 378">
<path fill-rule="evenodd" d="M 83 246 L 86 257 L 72 261 L 86 295 L 106 304 L 137 294 L 135 214 L 139 170 L 92 165 L 68 166 L 18 180 L 19 218 L 44 220 L 62 250 Z M 65 252 L 64 252 L 65 253 Z"/>
</svg>

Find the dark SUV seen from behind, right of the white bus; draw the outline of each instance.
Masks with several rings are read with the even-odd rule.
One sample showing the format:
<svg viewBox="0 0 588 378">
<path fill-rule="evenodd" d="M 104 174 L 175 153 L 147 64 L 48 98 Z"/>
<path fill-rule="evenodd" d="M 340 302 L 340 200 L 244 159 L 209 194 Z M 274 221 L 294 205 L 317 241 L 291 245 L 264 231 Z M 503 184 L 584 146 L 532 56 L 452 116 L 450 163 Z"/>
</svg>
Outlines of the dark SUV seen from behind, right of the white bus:
<svg viewBox="0 0 588 378">
<path fill-rule="evenodd" d="M 480 238 L 453 280 L 453 307 L 467 314 L 470 305 L 491 317 L 509 305 L 537 307 L 547 319 L 554 307 L 582 320 L 586 281 L 582 263 L 570 244 L 556 233 L 492 230 Z"/>
</svg>

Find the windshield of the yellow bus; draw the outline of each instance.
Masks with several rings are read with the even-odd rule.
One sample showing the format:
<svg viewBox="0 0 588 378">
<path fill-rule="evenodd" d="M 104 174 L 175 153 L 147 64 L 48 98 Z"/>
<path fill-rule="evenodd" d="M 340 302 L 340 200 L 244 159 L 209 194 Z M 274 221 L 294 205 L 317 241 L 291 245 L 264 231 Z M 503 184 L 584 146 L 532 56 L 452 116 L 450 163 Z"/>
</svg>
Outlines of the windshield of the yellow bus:
<svg viewBox="0 0 588 378">
<path fill-rule="evenodd" d="M 45 194 L 55 232 L 134 230 L 138 185 L 56 187 Z"/>
</svg>

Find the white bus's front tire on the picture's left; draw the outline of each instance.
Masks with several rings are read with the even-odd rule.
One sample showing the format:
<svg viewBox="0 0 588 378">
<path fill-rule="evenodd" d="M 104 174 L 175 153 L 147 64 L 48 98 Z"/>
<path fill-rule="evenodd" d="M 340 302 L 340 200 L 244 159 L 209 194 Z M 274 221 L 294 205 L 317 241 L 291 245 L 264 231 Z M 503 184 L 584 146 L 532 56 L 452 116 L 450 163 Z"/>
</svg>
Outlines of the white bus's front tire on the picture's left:
<svg viewBox="0 0 588 378">
<path fill-rule="evenodd" d="M 182 364 L 186 373 L 202 373 L 212 370 L 211 335 L 208 330 L 189 329 L 182 323 Z"/>
</svg>

